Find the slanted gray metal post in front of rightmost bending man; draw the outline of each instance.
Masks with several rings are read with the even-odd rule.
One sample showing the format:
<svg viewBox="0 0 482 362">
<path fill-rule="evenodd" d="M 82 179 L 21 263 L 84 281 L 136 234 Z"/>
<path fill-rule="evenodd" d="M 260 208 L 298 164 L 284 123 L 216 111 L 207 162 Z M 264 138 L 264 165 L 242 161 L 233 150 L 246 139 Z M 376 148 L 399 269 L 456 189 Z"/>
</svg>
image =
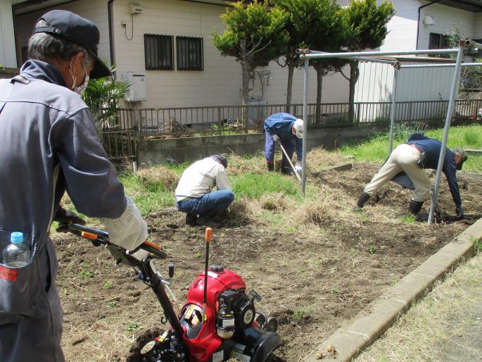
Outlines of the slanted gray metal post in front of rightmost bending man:
<svg viewBox="0 0 482 362">
<path fill-rule="evenodd" d="M 464 42 L 459 42 L 459 52 L 457 53 L 457 61 L 455 62 L 454 77 L 452 79 L 452 87 L 450 92 L 450 100 L 448 101 L 447 118 L 445 118 L 445 128 L 443 130 L 442 146 L 440 147 L 440 156 L 438 157 L 437 173 L 435 183 L 433 185 L 432 203 L 429 212 L 429 224 L 433 223 L 433 213 L 437 205 L 438 187 L 440 186 L 440 175 L 443 168 L 443 158 L 445 157 L 445 148 L 447 147 L 448 131 L 450 130 L 450 120 L 452 120 L 452 111 L 455 104 L 455 95 L 457 94 L 457 86 L 459 84 L 460 65 L 462 64 Z"/>
</svg>

